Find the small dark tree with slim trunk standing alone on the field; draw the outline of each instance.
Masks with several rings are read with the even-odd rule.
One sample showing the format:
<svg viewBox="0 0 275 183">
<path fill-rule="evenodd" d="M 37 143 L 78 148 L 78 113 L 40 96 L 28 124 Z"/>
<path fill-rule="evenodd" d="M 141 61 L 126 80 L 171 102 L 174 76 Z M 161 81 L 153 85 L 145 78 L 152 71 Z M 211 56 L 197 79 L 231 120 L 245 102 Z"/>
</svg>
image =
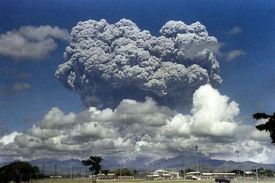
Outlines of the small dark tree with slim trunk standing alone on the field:
<svg viewBox="0 0 275 183">
<path fill-rule="evenodd" d="M 100 156 L 91 156 L 89 159 L 81 161 L 83 166 L 91 166 L 89 171 L 91 171 L 92 183 L 96 183 L 97 174 L 99 174 L 99 171 L 101 170 L 100 163 L 102 160 L 103 159 Z M 95 176 L 95 178 L 93 176 Z"/>
</svg>

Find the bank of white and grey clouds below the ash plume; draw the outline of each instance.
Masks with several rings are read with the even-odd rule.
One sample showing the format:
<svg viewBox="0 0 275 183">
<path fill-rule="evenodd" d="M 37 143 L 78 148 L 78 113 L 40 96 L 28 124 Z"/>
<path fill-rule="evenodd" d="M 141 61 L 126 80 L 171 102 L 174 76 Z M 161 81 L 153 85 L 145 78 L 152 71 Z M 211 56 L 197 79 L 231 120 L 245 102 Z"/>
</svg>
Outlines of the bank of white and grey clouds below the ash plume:
<svg viewBox="0 0 275 183">
<path fill-rule="evenodd" d="M 124 99 L 115 109 L 89 107 L 79 114 L 54 107 L 26 132 L 3 136 L 0 157 L 30 159 L 35 153 L 37 158 L 68 159 L 73 151 L 79 159 L 93 154 L 155 160 L 193 151 L 195 143 L 215 158 L 232 158 L 236 149 L 242 160 L 273 157 L 268 133 L 236 121 L 238 104 L 209 84 L 194 92 L 190 113 L 177 113 L 149 97 L 144 102 Z"/>
</svg>

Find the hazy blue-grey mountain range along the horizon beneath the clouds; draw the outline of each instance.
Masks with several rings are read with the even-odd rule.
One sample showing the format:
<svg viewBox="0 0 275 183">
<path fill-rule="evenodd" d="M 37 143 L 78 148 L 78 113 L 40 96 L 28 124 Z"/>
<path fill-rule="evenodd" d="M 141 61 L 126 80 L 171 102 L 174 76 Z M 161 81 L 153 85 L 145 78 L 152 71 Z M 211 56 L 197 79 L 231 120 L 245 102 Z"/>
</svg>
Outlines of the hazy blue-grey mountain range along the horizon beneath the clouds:
<svg viewBox="0 0 275 183">
<path fill-rule="evenodd" d="M 275 164 L 258 164 L 255 162 L 234 162 L 234 161 L 225 161 L 225 160 L 215 160 L 204 155 L 201 155 L 200 158 L 196 158 L 195 155 L 178 155 L 169 159 L 159 159 L 151 163 L 146 159 L 137 158 L 134 161 L 128 161 L 126 163 L 119 164 L 115 159 L 108 157 L 103 158 L 102 168 L 103 169 L 119 169 L 119 168 L 128 168 L 134 169 L 140 172 L 146 172 L 147 167 L 151 170 L 156 169 L 167 169 L 167 170 L 178 170 L 178 169 L 193 169 L 196 170 L 196 164 L 198 171 L 208 172 L 208 171 L 232 171 L 236 169 L 250 171 L 256 168 L 263 167 L 264 169 L 275 170 Z M 197 160 L 197 161 L 196 161 Z M 81 162 L 80 160 L 56 160 L 56 159 L 38 159 L 30 161 L 30 164 L 40 168 L 40 171 L 44 171 L 45 174 L 54 174 L 55 173 L 55 164 L 56 172 L 58 175 L 69 175 L 70 174 L 70 162 L 72 165 L 72 175 L 74 175 L 74 170 L 76 175 L 81 174 Z M 197 162 L 197 163 L 196 163 Z M 1 163 L 0 165 L 7 165 L 11 162 Z M 44 164 L 44 168 L 43 168 Z M 85 173 L 88 173 L 88 168 L 84 167 Z"/>
</svg>

